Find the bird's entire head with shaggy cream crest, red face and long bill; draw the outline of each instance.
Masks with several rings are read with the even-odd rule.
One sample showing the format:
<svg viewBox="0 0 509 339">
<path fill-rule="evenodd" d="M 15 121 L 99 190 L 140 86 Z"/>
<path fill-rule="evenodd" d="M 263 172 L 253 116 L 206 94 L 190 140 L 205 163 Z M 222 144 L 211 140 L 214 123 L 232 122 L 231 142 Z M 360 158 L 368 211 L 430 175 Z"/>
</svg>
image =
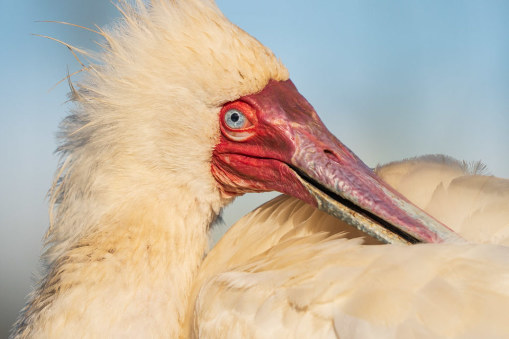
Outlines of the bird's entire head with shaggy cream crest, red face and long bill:
<svg viewBox="0 0 509 339">
<path fill-rule="evenodd" d="M 221 206 L 276 190 L 385 241 L 450 236 L 334 137 L 272 52 L 212 1 L 137 6 L 104 33 L 68 141 L 101 140 L 97 151 L 123 155 L 112 170 Z"/>
</svg>

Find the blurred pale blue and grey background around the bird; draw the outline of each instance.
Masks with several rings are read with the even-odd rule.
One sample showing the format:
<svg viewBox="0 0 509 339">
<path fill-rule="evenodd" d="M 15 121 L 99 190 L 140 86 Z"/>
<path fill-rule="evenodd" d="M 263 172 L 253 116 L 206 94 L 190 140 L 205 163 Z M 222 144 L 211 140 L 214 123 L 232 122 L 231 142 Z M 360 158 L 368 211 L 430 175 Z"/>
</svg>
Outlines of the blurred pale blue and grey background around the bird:
<svg viewBox="0 0 509 339">
<path fill-rule="evenodd" d="M 325 125 L 368 165 L 445 153 L 509 177 L 509 2 L 217 0 L 280 57 Z M 45 195 L 79 65 L 50 36 L 95 49 L 88 30 L 118 15 L 108 0 L 4 1 L 0 11 L 0 337 L 30 290 L 48 226 Z M 225 209 L 217 238 L 276 194 Z"/>
</svg>

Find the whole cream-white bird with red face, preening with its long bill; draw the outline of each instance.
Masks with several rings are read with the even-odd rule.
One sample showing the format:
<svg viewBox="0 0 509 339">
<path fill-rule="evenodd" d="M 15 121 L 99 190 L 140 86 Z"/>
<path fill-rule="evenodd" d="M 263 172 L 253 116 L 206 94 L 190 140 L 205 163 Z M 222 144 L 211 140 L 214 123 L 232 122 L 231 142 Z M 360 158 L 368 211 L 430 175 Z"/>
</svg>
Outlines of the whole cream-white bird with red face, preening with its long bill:
<svg viewBox="0 0 509 339">
<path fill-rule="evenodd" d="M 505 246 L 380 179 L 212 0 L 116 6 L 101 52 L 68 45 L 91 61 L 70 82 L 43 271 L 12 338 L 508 333 Z M 299 200 L 260 207 L 207 252 L 224 206 L 273 190 Z"/>
</svg>

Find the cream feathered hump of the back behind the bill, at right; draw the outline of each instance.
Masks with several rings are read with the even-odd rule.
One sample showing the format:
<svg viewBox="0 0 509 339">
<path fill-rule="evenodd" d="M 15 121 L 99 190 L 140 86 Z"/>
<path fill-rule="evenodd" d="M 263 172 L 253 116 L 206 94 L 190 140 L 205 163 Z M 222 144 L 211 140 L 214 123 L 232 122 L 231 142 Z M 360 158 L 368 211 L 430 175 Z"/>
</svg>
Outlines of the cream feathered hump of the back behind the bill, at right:
<svg viewBox="0 0 509 339">
<path fill-rule="evenodd" d="M 467 240 L 509 245 L 509 179 L 484 175 L 484 165 L 436 155 L 375 172 Z"/>
</svg>

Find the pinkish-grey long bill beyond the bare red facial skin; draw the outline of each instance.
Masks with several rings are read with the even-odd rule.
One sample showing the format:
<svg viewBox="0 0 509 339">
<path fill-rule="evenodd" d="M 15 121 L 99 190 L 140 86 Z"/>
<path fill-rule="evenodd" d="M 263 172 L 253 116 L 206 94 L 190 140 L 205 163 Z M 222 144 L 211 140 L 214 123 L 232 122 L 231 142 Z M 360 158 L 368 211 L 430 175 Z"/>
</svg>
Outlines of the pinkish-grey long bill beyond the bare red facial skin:
<svg viewBox="0 0 509 339">
<path fill-rule="evenodd" d="M 312 146 L 306 149 L 309 152 Z M 311 204 L 386 243 L 459 239 L 388 186 L 353 153 L 331 149 L 334 147 L 329 145 L 325 157 L 320 155 L 322 149 L 316 149 L 312 156 L 296 153 L 292 159 L 295 178 L 314 199 Z"/>
</svg>

